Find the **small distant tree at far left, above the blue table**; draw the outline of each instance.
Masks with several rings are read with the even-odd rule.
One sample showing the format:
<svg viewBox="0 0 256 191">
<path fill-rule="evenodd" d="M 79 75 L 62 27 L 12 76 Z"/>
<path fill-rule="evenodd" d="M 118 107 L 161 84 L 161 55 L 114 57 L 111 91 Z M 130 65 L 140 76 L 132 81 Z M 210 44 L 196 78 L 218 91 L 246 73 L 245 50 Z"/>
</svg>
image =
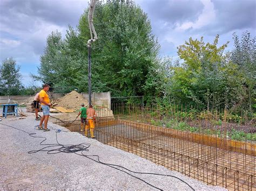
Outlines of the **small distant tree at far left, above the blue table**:
<svg viewBox="0 0 256 191">
<path fill-rule="evenodd" d="M 8 58 L 3 60 L 0 65 L 0 85 L 4 88 L 22 87 L 20 69 L 21 66 L 18 66 L 14 59 Z"/>
</svg>

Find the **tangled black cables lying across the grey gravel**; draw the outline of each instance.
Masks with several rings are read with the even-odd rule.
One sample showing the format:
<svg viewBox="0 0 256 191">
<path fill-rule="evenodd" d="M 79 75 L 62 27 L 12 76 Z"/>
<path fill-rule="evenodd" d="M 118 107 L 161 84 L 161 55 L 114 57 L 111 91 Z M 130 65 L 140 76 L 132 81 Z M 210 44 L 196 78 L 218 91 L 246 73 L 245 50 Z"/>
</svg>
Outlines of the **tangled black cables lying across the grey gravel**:
<svg viewBox="0 0 256 191">
<path fill-rule="evenodd" d="M 77 116 L 78 117 L 78 116 Z M 60 120 L 60 119 L 59 119 Z M 6 124 L 3 124 L 3 123 L 0 123 L 2 125 L 5 125 L 5 126 L 9 126 L 10 128 L 14 128 L 16 130 L 19 130 L 19 131 L 22 131 L 26 134 L 28 134 L 30 137 L 33 137 L 33 138 L 43 138 L 44 140 L 42 140 L 41 143 L 39 143 L 40 145 L 48 145 L 48 146 L 45 146 L 43 148 L 41 148 L 40 150 L 35 150 L 35 151 L 29 151 L 28 153 L 29 154 L 32 154 L 32 153 L 37 153 L 37 152 L 46 152 L 47 154 L 57 154 L 57 153 L 61 153 L 61 152 L 64 152 L 64 153 L 75 153 L 77 155 L 80 155 L 80 156 L 83 156 L 83 157 L 86 157 L 87 159 L 90 159 L 90 160 L 93 160 L 95 162 L 98 162 L 99 164 L 102 164 L 102 165 L 106 165 L 106 166 L 109 166 L 111 168 L 114 168 L 114 169 L 117 169 L 118 171 L 121 171 L 121 172 L 124 172 L 126 174 L 129 174 L 130 176 L 132 176 L 133 178 L 136 178 L 140 181 L 143 181 L 144 183 L 146 183 L 147 185 L 153 187 L 153 188 L 156 188 L 156 189 L 159 189 L 159 190 L 163 190 L 163 189 L 160 189 L 156 186 L 153 186 L 151 185 L 149 182 L 146 182 L 145 180 L 143 179 L 140 179 L 138 178 L 137 176 L 134 176 L 128 172 L 125 172 L 123 169 L 125 169 L 126 171 L 129 171 L 129 172 L 132 172 L 132 173 L 136 173 L 136 174 L 151 174 L 151 175 L 161 175 L 161 176 L 168 176 L 168 177 L 172 177 L 172 178 L 176 178 L 182 182 L 184 182 L 187 186 L 189 186 L 192 190 L 195 190 L 194 188 L 192 188 L 188 183 L 186 183 L 185 181 L 181 180 L 180 178 L 178 178 L 177 176 L 173 176 L 173 175 L 167 175 L 167 174 L 157 174 L 157 173 L 142 173 L 142 172 L 135 172 L 135 171 L 131 171 L 130 169 L 127 169 L 123 166 L 120 166 L 120 165 L 114 165 L 114 164 L 108 164 L 108 163 L 105 163 L 105 162 L 102 162 L 99 160 L 99 155 L 85 155 L 83 152 L 84 151 L 89 151 L 89 147 L 91 146 L 91 144 L 89 143 L 80 143 L 78 145 L 70 145 L 70 144 L 60 144 L 58 142 L 58 138 L 57 138 L 57 133 L 59 132 L 62 132 L 63 130 L 60 130 L 60 129 L 53 129 L 53 130 L 56 130 L 56 142 L 57 144 L 43 144 L 43 142 L 45 142 L 45 140 L 47 140 L 46 137 L 41 137 L 41 136 L 33 136 L 33 135 L 36 135 L 36 133 L 29 133 L 29 132 L 26 132 L 24 130 L 21 130 L 21 129 L 18 129 L 18 128 L 15 128 L 14 126 L 11 126 L 11 125 L 6 125 Z M 67 131 L 63 131 L 63 132 L 67 132 Z M 57 147 L 55 149 L 47 149 L 45 150 L 45 148 L 51 148 L 51 147 Z M 81 152 L 81 154 L 77 153 L 77 152 Z M 98 160 L 95 160 L 95 159 L 92 159 L 90 157 L 97 157 Z M 120 168 L 123 168 L 123 169 L 119 169 L 118 167 Z"/>
</svg>

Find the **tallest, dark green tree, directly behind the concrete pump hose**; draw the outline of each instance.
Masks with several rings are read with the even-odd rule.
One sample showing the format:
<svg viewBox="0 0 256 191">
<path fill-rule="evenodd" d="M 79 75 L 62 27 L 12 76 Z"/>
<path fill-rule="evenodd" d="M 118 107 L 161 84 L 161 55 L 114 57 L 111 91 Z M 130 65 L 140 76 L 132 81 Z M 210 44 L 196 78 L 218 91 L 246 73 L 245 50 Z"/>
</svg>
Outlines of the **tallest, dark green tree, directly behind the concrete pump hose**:
<svg viewBox="0 0 256 191">
<path fill-rule="evenodd" d="M 99 39 L 92 46 L 92 90 L 112 89 L 119 96 L 145 94 L 142 87 L 159 49 L 147 15 L 133 1 L 98 2 L 94 26 Z M 87 42 L 87 11 L 78 31 Z"/>
</svg>

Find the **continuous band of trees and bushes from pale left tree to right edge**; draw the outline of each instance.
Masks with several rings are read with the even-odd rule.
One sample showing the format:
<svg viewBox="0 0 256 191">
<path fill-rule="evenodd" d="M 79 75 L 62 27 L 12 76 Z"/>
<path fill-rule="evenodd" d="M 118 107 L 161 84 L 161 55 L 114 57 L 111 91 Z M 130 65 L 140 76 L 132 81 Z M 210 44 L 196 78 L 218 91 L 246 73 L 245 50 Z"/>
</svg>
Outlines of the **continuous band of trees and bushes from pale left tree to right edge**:
<svg viewBox="0 0 256 191">
<path fill-rule="evenodd" d="M 38 76 L 51 86 L 77 86 L 87 91 L 88 9 L 76 29 L 62 39 L 52 32 L 48 39 Z M 112 96 L 144 95 L 147 105 L 158 105 L 161 115 L 191 117 L 189 109 L 177 112 L 173 105 L 207 111 L 228 109 L 238 122 L 239 112 L 253 116 L 256 109 L 256 46 L 249 32 L 241 39 L 234 34 L 234 49 L 204 38 L 189 38 L 178 47 L 179 60 L 160 58 L 159 44 L 151 34 L 150 20 L 133 1 L 97 2 L 93 19 L 98 40 L 92 44 L 92 91 L 111 91 Z M 133 102 L 132 99 L 127 102 Z M 174 109 L 174 110 L 173 110 Z M 205 117 L 205 116 L 203 116 Z M 217 120 L 218 121 L 218 120 Z M 241 120 L 240 120 L 241 121 Z"/>
</svg>

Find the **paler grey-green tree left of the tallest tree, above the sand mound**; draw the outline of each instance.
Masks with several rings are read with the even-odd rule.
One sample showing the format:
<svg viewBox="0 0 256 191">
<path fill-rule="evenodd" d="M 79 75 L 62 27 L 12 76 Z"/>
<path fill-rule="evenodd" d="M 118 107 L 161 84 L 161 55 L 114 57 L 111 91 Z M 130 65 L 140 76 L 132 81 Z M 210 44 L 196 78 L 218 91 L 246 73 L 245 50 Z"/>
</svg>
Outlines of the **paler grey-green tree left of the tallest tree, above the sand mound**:
<svg viewBox="0 0 256 191">
<path fill-rule="evenodd" d="M 52 86 L 76 86 L 76 76 L 80 66 L 72 62 L 66 42 L 60 32 L 52 32 L 48 38 L 44 54 L 40 58 L 37 80 Z"/>
</svg>

